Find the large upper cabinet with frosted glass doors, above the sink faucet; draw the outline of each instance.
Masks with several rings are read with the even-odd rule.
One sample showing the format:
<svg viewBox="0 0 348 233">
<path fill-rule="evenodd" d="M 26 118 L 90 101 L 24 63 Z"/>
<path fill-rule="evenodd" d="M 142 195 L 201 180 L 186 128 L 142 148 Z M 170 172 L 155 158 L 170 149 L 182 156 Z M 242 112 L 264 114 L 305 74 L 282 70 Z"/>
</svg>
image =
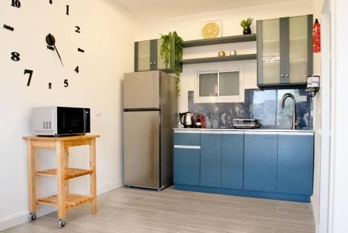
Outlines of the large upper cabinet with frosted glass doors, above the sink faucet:
<svg viewBox="0 0 348 233">
<path fill-rule="evenodd" d="M 258 87 L 306 87 L 313 74 L 313 15 L 257 22 Z"/>
</svg>

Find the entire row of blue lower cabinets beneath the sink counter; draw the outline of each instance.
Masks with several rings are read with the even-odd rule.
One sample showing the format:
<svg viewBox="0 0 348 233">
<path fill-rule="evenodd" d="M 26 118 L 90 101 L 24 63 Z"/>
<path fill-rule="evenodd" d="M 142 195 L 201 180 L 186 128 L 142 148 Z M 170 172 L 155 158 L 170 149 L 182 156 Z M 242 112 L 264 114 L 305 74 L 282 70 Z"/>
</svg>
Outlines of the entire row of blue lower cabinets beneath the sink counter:
<svg viewBox="0 0 348 233">
<path fill-rule="evenodd" d="M 175 132 L 176 189 L 310 202 L 313 133 L 197 132 Z"/>
</svg>

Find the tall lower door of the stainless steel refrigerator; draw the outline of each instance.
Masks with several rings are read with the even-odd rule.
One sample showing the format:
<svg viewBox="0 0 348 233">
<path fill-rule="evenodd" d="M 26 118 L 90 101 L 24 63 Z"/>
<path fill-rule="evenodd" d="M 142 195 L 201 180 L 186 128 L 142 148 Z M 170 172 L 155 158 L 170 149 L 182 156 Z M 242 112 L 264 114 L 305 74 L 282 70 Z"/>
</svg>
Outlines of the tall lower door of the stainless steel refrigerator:
<svg viewBox="0 0 348 233">
<path fill-rule="evenodd" d="M 160 112 L 123 113 L 125 184 L 159 189 Z"/>
</svg>

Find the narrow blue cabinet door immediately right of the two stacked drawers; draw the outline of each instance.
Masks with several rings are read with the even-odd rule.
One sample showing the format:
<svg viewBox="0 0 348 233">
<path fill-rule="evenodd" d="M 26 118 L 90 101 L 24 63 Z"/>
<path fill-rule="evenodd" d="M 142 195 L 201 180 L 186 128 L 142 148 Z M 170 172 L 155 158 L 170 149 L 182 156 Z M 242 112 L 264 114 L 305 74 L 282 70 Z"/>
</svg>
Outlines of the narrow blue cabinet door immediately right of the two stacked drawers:
<svg viewBox="0 0 348 233">
<path fill-rule="evenodd" d="M 200 135 L 200 185 L 221 188 L 221 132 Z"/>
</svg>

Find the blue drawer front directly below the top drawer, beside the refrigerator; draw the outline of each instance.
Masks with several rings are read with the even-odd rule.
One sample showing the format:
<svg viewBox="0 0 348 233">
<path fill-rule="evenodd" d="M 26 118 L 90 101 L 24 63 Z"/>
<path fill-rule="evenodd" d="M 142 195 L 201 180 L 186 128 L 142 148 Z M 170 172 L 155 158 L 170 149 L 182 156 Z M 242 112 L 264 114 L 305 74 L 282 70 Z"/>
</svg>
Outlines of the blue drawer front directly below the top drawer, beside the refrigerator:
<svg viewBox="0 0 348 233">
<path fill-rule="evenodd" d="M 199 185 L 199 180 L 199 146 L 174 146 L 174 184 Z"/>
</svg>

